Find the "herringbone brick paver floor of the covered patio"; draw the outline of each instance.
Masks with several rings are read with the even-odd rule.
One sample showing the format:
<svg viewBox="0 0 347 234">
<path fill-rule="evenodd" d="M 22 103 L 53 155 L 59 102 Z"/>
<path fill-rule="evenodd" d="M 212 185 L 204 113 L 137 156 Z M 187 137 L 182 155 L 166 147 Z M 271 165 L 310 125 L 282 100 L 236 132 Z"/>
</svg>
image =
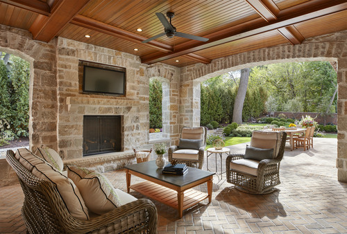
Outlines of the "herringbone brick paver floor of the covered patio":
<svg viewBox="0 0 347 234">
<path fill-rule="evenodd" d="M 158 233 L 347 233 L 347 183 L 337 181 L 337 139 L 314 140 L 314 148 L 308 151 L 286 150 L 280 166 L 282 183 L 269 195 L 239 192 L 223 174 L 221 180 L 214 177 L 212 202 L 185 210 L 181 219 L 173 208 L 153 201 L 158 208 Z M 244 152 L 245 145 L 230 150 Z M 214 156 L 210 157 L 209 168 L 214 163 Z M 124 170 L 105 175 L 116 188 L 126 190 Z M 132 178 L 132 183 L 137 181 L 141 179 Z M 207 186 L 196 189 L 206 191 Z M 0 233 L 26 231 L 20 217 L 22 200 L 19 185 L 0 188 Z"/>
</svg>

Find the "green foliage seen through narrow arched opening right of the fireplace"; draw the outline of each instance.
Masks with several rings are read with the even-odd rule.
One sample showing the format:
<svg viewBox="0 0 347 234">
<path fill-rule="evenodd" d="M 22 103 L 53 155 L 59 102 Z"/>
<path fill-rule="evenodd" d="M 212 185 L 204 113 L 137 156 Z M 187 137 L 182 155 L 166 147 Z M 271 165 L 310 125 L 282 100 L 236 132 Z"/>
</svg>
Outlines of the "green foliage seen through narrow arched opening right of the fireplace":
<svg viewBox="0 0 347 234">
<path fill-rule="evenodd" d="M 149 127 L 162 128 L 162 82 L 149 82 Z"/>
</svg>

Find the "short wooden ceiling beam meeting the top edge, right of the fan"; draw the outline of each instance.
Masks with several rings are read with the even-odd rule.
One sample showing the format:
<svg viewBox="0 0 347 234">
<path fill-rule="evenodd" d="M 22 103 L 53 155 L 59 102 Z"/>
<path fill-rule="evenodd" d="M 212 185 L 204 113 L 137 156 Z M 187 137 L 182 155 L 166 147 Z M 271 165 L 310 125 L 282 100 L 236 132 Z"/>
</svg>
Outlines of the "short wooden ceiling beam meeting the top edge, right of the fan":
<svg viewBox="0 0 347 234">
<path fill-rule="evenodd" d="M 280 9 L 272 0 L 246 0 L 246 2 L 265 19 L 266 22 L 276 20 L 280 12 Z"/>
</svg>

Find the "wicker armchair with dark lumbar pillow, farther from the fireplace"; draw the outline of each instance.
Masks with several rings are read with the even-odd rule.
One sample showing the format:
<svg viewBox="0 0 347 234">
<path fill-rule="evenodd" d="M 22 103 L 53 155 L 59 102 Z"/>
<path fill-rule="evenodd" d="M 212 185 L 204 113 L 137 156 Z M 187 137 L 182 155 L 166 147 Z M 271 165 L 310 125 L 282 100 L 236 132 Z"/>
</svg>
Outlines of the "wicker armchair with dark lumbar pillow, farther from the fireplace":
<svg viewBox="0 0 347 234">
<path fill-rule="evenodd" d="M 255 143 L 255 134 L 257 137 L 260 137 L 258 138 L 257 143 Z M 262 139 L 262 134 L 264 134 L 264 138 L 268 136 L 271 138 L 276 138 L 274 141 L 276 146 L 261 147 L 262 144 L 269 145 L 266 143 L 267 140 Z M 280 161 L 282 160 L 285 152 L 286 138 L 287 134 L 285 132 L 254 131 L 251 138 L 251 146 L 263 149 L 274 148 L 273 159 L 255 161 L 244 159 L 244 154 L 230 154 L 226 159 L 226 177 L 228 183 L 235 184 L 236 188 L 238 190 L 242 190 L 243 192 L 253 194 L 273 192 L 273 187 L 280 184 Z M 239 168 L 235 167 L 238 160 L 238 162 L 241 162 L 240 159 L 253 164 L 253 168 L 248 168 L 246 165 L 242 165 Z M 232 165 L 230 166 L 230 164 Z"/>
</svg>

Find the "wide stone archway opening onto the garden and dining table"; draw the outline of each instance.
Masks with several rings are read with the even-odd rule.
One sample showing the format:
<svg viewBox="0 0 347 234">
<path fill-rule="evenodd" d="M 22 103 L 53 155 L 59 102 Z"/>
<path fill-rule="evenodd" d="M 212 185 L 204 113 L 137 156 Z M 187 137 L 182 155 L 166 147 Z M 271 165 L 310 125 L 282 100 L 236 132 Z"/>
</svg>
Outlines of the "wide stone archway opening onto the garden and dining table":
<svg viewBox="0 0 347 234">
<path fill-rule="evenodd" d="M 210 64 L 196 64 L 181 69 L 180 125 L 200 123 L 200 82 L 226 71 L 276 62 L 328 61 L 337 62 L 338 91 L 338 154 L 339 181 L 347 181 L 347 31 L 312 37 L 299 45 L 280 45 L 262 48 L 212 60 Z M 191 95 L 187 95 L 191 93 Z"/>
</svg>

